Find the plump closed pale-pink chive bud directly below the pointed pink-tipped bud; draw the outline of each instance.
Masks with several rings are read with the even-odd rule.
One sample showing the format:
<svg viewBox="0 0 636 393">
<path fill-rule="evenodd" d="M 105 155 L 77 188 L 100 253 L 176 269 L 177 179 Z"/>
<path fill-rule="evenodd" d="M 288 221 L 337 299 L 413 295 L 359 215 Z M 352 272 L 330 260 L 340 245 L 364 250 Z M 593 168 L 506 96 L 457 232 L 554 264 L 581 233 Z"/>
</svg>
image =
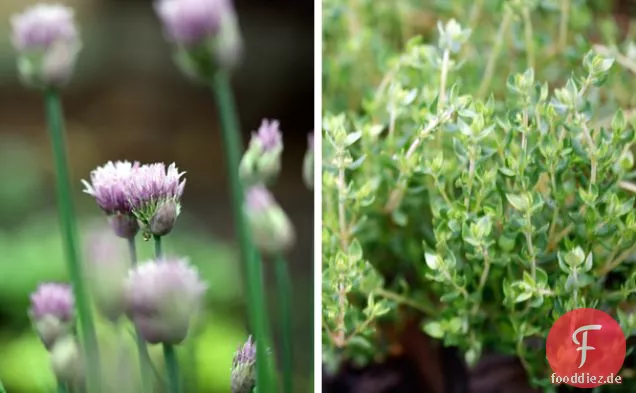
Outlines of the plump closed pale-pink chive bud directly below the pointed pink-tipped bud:
<svg viewBox="0 0 636 393">
<path fill-rule="evenodd" d="M 245 214 L 254 236 L 254 244 L 265 255 L 288 251 L 294 241 L 289 218 L 263 186 L 253 186 L 245 197 Z"/>
</svg>

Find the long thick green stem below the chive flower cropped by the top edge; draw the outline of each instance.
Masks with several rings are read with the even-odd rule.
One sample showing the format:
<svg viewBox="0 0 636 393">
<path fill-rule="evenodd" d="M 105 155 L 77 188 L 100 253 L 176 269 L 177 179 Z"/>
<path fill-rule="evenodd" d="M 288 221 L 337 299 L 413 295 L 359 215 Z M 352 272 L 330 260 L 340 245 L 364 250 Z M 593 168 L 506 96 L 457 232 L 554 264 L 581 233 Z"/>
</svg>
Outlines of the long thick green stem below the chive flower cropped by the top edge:
<svg viewBox="0 0 636 393">
<path fill-rule="evenodd" d="M 232 212 L 235 219 L 236 234 L 239 240 L 241 259 L 247 276 L 247 308 L 249 322 L 256 339 L 257 384 L 260 393 L 272 393 L 267 357 L 267 323 L 266 306 L 262 290 L 262 274 L 259 274 L 258 258 L 253 247 L 249 229 L 243 211 L 244 191 L 239 179 L 239 163 L 241 159 L 241 139 L 239 124 L 234 105 L 234 97 L 227 73 L 219 71 L 212 81 L 212 89 L 221 118 L 223 150 L 225 152 L 226 170 L 228 172 L 232 198 Z"/>
</svg>

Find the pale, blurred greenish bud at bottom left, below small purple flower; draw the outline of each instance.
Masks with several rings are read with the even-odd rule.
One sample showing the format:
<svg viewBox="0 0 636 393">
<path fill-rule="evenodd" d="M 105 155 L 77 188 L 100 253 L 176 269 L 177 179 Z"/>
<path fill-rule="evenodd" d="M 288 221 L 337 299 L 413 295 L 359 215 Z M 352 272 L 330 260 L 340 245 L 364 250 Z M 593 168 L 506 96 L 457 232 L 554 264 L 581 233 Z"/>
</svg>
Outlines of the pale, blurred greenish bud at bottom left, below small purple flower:
<svg viewBox="0 0 636 393">
<path fill-rule="evenodd" d="M 66 336 L 51 349 L 51 368 L 61 382 L 75 385 L 84 378 L 84 364 L 77 340 Z"/>
</svg>

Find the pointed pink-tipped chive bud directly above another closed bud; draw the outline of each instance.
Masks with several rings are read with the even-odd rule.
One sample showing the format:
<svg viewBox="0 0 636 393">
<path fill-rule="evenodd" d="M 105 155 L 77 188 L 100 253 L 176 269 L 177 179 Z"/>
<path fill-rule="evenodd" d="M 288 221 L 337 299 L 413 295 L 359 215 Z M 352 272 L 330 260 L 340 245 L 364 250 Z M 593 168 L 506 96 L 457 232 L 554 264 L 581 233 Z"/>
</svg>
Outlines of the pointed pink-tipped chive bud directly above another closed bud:
<svg viewBox="0 0 636 393">
<path fill-rule="evenodd" d="M 278 177 L 283 153 L 283 138 L 277 120 L 264 119 L 252 133 L 239 172 L 246 184 L 271 184 Z"/>
</svg>

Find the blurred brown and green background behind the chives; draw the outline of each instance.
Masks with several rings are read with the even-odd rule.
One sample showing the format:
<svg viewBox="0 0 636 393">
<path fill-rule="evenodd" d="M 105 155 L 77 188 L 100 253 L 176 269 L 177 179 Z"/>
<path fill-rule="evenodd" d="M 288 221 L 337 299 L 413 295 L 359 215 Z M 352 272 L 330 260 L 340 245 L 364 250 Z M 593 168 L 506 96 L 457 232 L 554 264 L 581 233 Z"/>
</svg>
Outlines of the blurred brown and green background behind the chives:
<svg viewBox="0 0 636 393">
<path fill-rule="evenodd" d="M 121 244 L 104 232 L 104 217 L 82 194 L 80 179 L 121 159 L 176 162 L 187 171 L 183 214 L 165 247 L 189 256 L 210 291 L 206 312 L 181 353 L 186 390 L 228 392 L 232 355 L 248 332 L 214 101 L 174 66 L 151 0 L 62 2 L 76 8 L 84 42 L 77 76 L 63 98 L 86 259 L 117 252 L 98 244 Z M 9 38 L 10 16 L 33 3 L 0 2 L 0 378 L 11 393 L 54 386 L 47 353 L 30 328 L 28 296 L 41 281 L 66 279 L 42 100 L 19 84 Z M 313 196 L 300 168 L 313 127 L 313 2 L 235 5 L 246 45 L 234 77 L 244 140 L 262 118 L 279 119 L 284 135 L 284 168 L 274 193 L 298 235 L 289 262 L 295 378 L 297 391 L 306 392 L 313 369 Z M 141 248 L 142 256 L 150 255 L 150 245 Z M 270 273 L 269 299 L 273 289 Z M 274 320 L 273 300 L 270 310 Z M 116 348 L 110 344 L 123 340 L 109 326 L 98 328 L 103 347 Z"/>
</svg>

